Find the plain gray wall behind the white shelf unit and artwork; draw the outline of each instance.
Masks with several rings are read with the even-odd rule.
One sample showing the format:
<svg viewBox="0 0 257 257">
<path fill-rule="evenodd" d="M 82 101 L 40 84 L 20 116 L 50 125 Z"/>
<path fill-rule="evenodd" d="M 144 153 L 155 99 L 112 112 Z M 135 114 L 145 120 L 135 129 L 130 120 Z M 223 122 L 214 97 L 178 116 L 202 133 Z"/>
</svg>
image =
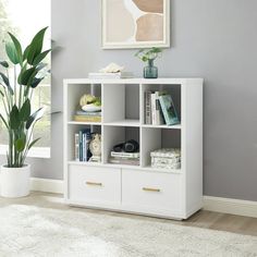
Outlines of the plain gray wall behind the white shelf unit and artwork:
<svg viewBox="0 0 257 257">
<path fill-rule="evenodd" d="M 86 77 L 111 61 L 136 75 L 135 50 L 101 50 L 100 0 L 53 0 L 52 106 L 62 79 Z M 205 195 L 257 200 L 257 1 L 171 0 L 172 47 L 160 76 L 205 78 Z M 52 118 L 52 158 L 34 175 L 62 179 L 62 117 Z"/>
</svg>

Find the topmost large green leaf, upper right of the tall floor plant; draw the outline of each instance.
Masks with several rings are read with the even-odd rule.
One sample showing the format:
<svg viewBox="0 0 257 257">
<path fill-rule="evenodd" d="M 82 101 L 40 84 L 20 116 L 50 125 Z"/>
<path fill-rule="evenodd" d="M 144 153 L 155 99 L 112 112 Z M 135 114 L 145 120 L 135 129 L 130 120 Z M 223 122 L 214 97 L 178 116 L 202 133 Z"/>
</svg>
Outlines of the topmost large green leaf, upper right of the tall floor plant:
<svg viewBox="0 0 257 257">
<path fill-rule="evenodd" d="M 41 30 L 39 30 L 30 42 L 30 46 L 27 52 L 27 62 L 30 65 L 33 65 L 33 62 L 37 58 L 37 56 L 41 53 L 44 37 L 45 37 L 45 33 L 47 28 L 48 27 L 45 27 Z"/>
</svg>

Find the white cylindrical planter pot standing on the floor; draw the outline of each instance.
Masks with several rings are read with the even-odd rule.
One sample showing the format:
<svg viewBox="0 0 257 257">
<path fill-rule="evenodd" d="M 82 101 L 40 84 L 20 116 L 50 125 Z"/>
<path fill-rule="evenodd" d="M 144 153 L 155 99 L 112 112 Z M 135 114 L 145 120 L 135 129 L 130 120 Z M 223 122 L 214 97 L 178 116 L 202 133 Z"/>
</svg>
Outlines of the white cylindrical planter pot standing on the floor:
<svg viewBox="0 0 257 257">
<path fill-rule="evenodd" d="M 3 197 L 23 197 L 29 194 L 30 166 L 8 168 L 1 166 L 0 195 Z"/>
</svg>

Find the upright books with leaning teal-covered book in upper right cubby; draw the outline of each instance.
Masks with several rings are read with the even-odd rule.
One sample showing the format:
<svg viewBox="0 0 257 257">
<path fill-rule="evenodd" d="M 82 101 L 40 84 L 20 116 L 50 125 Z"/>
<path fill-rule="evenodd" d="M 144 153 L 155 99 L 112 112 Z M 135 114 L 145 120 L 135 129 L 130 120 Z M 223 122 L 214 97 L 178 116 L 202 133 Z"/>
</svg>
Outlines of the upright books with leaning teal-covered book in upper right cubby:
<svg viewBox="0 0 257 257">
<path fill-rule="evenodd" d="M 145 91 L 145 124 L 174 125 L 180 123 L 174 102 L 163 91 Z"/>
</svg>

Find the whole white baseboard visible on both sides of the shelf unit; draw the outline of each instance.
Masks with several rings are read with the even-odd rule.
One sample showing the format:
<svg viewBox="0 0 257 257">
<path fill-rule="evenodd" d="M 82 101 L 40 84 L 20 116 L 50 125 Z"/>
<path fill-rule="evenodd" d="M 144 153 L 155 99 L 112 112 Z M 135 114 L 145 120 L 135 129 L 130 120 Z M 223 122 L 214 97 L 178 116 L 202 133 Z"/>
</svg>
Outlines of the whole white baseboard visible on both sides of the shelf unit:
<svg viewBox="0 0 257 257">
<path fill-rule="evenodd" d="M 33 178 L 32 189 L 63 194 L 64 185 L 62 180 L 45 180 Z M 204 196 L 204 209 L 221 213 L 257 218 L 257 201 Z"/>
</svg>

